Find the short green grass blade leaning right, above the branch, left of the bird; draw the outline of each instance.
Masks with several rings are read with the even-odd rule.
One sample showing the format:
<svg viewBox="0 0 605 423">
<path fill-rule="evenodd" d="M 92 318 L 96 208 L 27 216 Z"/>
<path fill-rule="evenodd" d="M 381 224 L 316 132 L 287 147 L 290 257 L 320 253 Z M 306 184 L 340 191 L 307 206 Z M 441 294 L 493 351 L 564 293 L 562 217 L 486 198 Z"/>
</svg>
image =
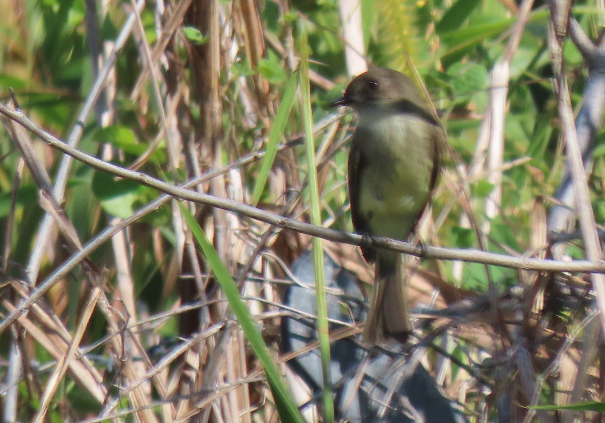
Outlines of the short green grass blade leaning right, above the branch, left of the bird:
<svg viewBox="0 0 605 423">
<path fill-rule="evenodd" d="M 280 148 L 280 141 L 284 137 L 284 131 L 286 130 L 286 123 L 288 122 L 288 116 L 294 103 L 294 97 L 296 94 L 296 81 L 298 77 L 296 72 L 290 76 L 290 80 L 286 85 L 286 91 L 284 91 L 284 97 L 281 98 L 280 107 L 277 109 L 275 114 L 275 120 L 273 120 L 273 126 L 271 132 L 269 132 L 269 143 L 267 143 L 265 157 L 263 159 L 263 165 L 258 173 L 257 183 L 254 186 L 252 193 L 252 205 L 257 205 L 263 194 L 263 189 L 269 179 L 269 172 L 273 166 L 273 161 L 277 155 L 277 151 Z"/>
</svg>

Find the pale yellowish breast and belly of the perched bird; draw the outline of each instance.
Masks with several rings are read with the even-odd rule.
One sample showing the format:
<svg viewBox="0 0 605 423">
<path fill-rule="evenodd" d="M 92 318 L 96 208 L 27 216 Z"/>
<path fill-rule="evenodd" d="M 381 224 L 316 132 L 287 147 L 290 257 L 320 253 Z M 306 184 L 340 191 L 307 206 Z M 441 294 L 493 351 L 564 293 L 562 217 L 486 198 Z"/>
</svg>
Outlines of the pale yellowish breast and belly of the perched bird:
<svg viewBox="0 0 605 423">
<path fill-rule="evenodd" d="M 434 166 L 434 126 L 414 115 L 360 119 L 365 140 L 359 208 L 372 234 L 407 238 L 424 209 Z"/>
</svg>

